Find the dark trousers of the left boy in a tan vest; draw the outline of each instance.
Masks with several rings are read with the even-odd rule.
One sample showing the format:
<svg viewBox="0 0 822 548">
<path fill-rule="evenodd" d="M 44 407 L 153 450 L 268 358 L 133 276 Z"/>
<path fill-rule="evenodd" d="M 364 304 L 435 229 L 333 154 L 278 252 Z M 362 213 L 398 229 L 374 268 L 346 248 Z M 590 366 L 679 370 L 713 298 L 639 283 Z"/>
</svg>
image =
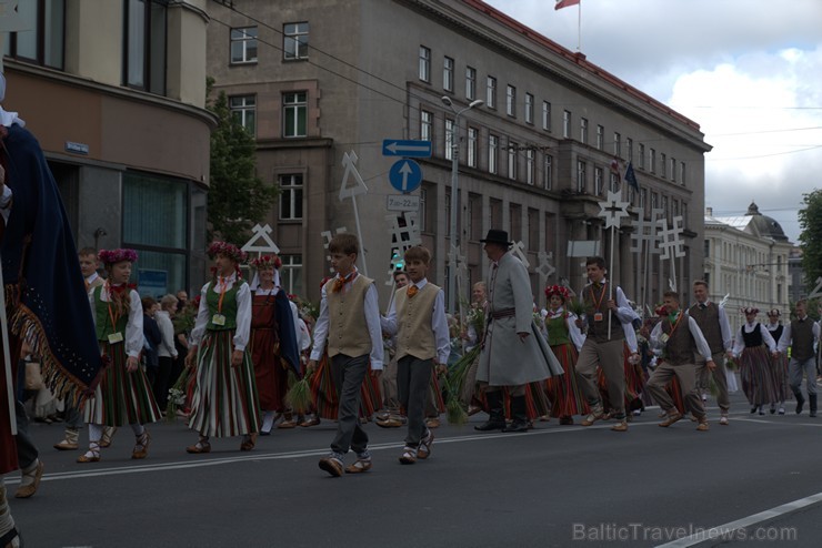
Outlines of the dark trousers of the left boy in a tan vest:
<svg viewBox="0 0 822 548">
<path fill-rule="evenodd" d="M 331 376 L 337 386 L 340 407 L 337 417 L 337 435 L 331 450 L 347 454 L 349 449 L 360 454 L 368 448 L 368 434 L 360 426 L 360 387 L 369 368 L 368 354 L 358 357 L 338 354 L 331 358 Z"/>
</svg>

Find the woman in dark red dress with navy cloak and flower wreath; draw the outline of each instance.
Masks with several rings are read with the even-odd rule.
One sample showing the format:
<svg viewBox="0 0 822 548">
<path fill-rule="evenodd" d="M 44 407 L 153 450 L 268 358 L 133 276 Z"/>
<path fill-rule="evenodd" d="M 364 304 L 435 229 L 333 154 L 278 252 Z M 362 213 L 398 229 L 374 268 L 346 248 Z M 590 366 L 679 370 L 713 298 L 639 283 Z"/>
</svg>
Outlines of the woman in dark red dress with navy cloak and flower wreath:
<svg viewBox="0 0 822 548">
<path fill-rule="evenodd" d="M 251 294 L 251 362 L 254 364 L 257 392 L 262 408 L 262 429 L 268 435 L 277 412 L 285 410 L 288 372 L 300 376 L 300 356 L 294 324 L 299 321 L 297 306 L 280 288 L 280 266 L 277 255 L 264 255 L 250 263 L 257 271 Z"/>
</svg>

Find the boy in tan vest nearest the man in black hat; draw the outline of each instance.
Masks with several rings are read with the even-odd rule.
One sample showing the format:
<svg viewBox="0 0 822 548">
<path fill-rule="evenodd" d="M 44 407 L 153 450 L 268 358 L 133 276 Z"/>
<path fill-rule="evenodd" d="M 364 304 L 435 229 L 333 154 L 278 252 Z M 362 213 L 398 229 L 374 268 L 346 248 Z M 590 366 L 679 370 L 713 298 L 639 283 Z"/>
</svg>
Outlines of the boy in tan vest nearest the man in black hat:
<svg viewBox="0 0 822 548">
<path fill-rule="evenodd" d="M 400 463 L 428 458 L 434 435 L 425 426 L 425 396 L 434 366 L 444 369 L 451 348 L 445 304 L 440 287 L 425 278 L 431 252 L 414 246 L 405 252 L 411 283 L 397 291 L 382 328 L 397 335 L 397 387 L 408 416 L 408 435 Z"/>
</svg>

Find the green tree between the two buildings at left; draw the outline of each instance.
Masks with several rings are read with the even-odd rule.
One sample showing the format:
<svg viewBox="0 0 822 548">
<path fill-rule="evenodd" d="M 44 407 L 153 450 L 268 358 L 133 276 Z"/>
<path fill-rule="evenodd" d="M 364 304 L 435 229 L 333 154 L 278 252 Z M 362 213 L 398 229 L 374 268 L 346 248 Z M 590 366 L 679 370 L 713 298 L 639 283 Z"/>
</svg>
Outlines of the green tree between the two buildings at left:
<svg viewBox="0 0 822 548">
<path fill-rule="evenodd" d="M 211 83 L 209 80 L 209 95 Z M 254 224 L 265 219 L 280 189 L 257 176 L 254 138 L 231 115 L 225 92 L 209 101 L 208 109 L 218 119 L 211 133 L 209 240 L 242 245 Z"/>
</svg>

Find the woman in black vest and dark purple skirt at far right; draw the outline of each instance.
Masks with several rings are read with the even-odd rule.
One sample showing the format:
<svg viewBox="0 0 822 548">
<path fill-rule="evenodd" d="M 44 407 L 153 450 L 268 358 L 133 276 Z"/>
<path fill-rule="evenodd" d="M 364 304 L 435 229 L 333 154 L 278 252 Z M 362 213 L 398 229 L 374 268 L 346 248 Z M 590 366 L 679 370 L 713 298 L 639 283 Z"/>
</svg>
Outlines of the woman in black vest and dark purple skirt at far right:
<svg viewBox="0 0 822 548">
<path fill-rule="evenodd" d="M 733 357 L 739 362 L 742 392 L 751 404 L 751 413 L 759 410 L 764 415 L 762 406 L 778 398 L 771 378 L 771 358 L 776 356 L 776 342 L 765 326 L 756 322 L 759 308 L 742 308 L 742 313 L 745 324 L 736 332 Z"/>
</svg>

